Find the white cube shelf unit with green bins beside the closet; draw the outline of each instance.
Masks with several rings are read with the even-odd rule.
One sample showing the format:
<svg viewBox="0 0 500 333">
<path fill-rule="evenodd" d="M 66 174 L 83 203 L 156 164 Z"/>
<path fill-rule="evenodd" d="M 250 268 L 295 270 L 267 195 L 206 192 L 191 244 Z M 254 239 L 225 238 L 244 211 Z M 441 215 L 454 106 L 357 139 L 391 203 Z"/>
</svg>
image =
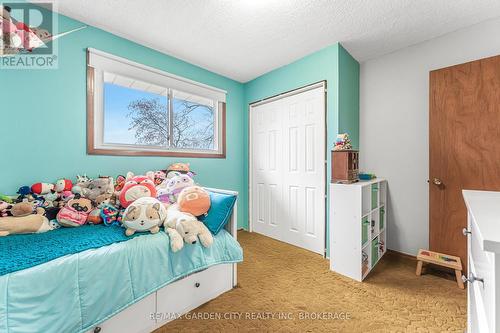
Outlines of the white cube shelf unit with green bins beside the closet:
<svg viewBox="0 0 500 333">
<path fill-rule="evenodd" d="M 330 270 L 363 281 L 387 251 L 387 182 L 330 184 Z"/>
</svg>

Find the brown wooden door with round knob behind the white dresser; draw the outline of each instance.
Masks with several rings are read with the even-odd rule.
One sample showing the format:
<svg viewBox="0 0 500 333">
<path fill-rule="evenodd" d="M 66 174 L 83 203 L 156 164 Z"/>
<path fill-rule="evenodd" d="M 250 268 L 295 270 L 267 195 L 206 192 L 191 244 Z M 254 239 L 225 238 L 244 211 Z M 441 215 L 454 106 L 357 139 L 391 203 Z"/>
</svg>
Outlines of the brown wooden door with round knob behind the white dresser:
<svg viewBox="0 0 500 333">
<path fill-rule="evenodd" d="M 461 191 L 500 190 L 500 56 L 432 71 L 429 114 L 430 250 L 465 268 Z"/>
</svg>

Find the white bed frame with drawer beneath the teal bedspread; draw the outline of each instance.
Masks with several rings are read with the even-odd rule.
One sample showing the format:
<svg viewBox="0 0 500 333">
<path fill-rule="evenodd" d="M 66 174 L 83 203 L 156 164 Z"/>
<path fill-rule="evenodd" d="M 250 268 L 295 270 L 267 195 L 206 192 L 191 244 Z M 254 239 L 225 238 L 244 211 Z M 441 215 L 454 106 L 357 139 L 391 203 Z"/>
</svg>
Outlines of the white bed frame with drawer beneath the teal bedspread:
<svg viewBox="0 0 500 333">
<path fill-rule="evenodd" d="M 206 188 L 238 195 L 238 192 Z M 236 238 L 238 200 L 225 229 Z M 132 304 L 86 333 L 146 333 L 233 289 L 237 283 L 236 264 L 220 264 L 176 280 Z"/>
</svg>

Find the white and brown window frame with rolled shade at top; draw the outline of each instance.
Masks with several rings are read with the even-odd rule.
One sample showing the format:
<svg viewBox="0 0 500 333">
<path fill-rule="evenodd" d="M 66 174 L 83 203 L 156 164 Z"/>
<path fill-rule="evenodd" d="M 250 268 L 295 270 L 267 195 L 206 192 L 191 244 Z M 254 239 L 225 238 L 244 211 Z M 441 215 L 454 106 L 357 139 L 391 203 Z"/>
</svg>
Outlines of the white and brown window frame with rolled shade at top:
<svg viewBox="0 0 500 333">
<path fill-rule="evenodd" d="M 89 154 L 110 155 L 164 155 L 187 157 L 225 157 L 225 102 L 227 92 L 203 83 L 142 65 L 103 51 L 87 49 L 87 103 L 92 103 L 92 119 L 87 121 L 87 140 Z M 90 74 L 92 72 L 92 74 Z M 135 80 L 155 84 L 213 100 L 215 103 L 214 135 L 215 149 L 179 149 L 137 144 L 104 143 L 104 73 L 109 72 Z M 90 97 L 89 97 L 90 95 Z M 170 98 L 171 96 L 169 96 Z M 170 99 L 169 99 L 170 101 Z M 170 101 L 171 102 L 171 101 Z M 89 105 L 88 105 L 89 106 Z M 222 106 L 222 107 L 221 107 Z M 87 115 L 89 118 L 89 114 Z M 222 125 L 222 126 L 221 126 Z M 89 131 L 91 127 L 91 131 Z M 170 135 L 171 138 L 171 135 Z M 89 139 L 89 138 L 88 138 Z M 203 156 L 206 155 L 206 156 Z"/>
</svg>

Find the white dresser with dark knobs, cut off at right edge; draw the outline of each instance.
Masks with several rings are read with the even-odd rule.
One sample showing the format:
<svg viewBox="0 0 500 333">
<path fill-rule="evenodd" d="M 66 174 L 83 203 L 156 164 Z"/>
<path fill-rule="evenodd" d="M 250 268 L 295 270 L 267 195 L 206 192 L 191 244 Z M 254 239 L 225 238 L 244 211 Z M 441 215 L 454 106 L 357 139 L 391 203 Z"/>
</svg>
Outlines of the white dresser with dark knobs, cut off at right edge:
<svg viewBox="0 0 500 333">
<path fill-rule="evenodd" d="M 467 332 L 500 332 L 500 192 L 463 191 L 468 210 Z"/>
</svg>

